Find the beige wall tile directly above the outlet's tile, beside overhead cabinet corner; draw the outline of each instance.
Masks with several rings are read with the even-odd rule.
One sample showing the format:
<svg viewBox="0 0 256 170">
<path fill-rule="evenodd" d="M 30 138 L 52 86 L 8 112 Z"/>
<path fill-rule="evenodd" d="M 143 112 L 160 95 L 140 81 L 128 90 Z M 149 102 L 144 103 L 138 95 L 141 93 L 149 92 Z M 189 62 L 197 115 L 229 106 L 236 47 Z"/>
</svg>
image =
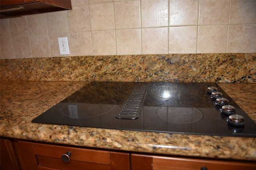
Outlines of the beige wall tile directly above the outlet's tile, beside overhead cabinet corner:
<svg viewBox="0 0 256 170">
<path fill-rule="evenodd" d="M 67 33 L 68 16 L 66 11 L 46 13 L 48 33 Z"/>
</svg>

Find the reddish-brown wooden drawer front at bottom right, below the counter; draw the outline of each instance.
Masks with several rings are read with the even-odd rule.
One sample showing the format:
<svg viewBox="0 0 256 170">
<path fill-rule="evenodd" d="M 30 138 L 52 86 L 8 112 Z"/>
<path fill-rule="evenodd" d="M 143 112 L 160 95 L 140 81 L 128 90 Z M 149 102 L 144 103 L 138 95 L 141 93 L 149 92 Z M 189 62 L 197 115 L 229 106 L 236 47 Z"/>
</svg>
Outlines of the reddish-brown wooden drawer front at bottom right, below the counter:
<svg viewBox="0 0 256 170">
<path fill-rule="evenodd" d="M 143 161 L 145 164 L 139 164 Z M 256 170 L 256 163 L 177 158 L 167 156 L 131 155 L 132 170 Z"/>
</svg>

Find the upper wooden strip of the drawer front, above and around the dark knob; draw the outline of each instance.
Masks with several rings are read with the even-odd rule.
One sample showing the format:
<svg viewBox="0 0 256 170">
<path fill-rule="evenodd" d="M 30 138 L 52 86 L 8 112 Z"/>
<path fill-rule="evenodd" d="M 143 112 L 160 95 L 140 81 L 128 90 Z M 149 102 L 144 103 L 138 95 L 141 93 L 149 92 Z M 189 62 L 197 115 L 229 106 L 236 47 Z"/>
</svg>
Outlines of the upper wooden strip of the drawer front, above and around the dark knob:
<svg viewBox="0 0 256 170">
<path fill-rule="evenodd" d="M 73 147 L 62 147 L 55 145 L 46 145 L 33 143 L 34 152 L 37 156 L 48 156 L 52 158 L 61 158 L 62 154 L 70 152 L 70 161 L 83 161 L 97 164 L 110 165 L 109 153 L 101 150 L 89 150 Z"/>
</svg>

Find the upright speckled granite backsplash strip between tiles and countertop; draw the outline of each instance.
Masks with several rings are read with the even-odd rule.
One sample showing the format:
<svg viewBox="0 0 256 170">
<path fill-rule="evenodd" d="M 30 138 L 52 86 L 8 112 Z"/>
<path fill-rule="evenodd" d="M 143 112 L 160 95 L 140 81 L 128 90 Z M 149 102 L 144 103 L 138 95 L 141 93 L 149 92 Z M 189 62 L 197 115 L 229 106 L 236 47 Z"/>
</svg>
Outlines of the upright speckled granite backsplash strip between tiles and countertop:
<svg viewBox="0 0 256 170">
<path fill-rule="evenodd" d="M 256 82 L 256 53 L 1 59 L 2 80 Z"/>
</svg>

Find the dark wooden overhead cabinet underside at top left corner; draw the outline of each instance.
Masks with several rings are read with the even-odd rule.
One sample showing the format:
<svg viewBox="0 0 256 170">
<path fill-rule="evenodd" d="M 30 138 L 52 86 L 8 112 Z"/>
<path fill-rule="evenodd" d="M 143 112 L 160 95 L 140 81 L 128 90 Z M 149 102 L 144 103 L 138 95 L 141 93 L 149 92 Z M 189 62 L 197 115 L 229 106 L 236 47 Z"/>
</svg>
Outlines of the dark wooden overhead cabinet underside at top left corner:
<svg viewBox="0 0 256 170">
<path fill-rule="evenodd" d="M 71 9 L 70 0 L 0 0 L 1 19 Z"/>
</svg>

